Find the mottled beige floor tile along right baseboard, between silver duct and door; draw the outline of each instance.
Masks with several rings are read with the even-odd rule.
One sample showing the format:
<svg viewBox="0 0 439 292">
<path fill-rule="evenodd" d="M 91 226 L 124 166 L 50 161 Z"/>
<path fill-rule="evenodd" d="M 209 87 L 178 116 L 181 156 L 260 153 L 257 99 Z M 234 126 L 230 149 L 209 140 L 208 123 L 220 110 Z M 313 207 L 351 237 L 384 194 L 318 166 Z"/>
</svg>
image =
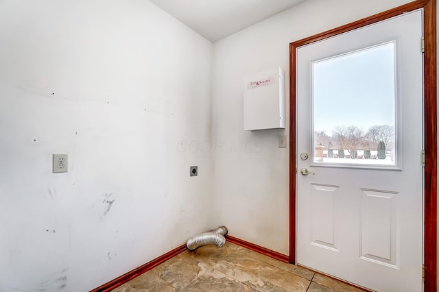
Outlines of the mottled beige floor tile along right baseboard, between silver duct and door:
<svg viewBox="0 0 439 292">
<path fill-rule="evenodd" d="M 257 291 L 307 291 L 309 286 L 305 278 L 236 253 L 220 260 L 214 269 Z"/>
</svg>

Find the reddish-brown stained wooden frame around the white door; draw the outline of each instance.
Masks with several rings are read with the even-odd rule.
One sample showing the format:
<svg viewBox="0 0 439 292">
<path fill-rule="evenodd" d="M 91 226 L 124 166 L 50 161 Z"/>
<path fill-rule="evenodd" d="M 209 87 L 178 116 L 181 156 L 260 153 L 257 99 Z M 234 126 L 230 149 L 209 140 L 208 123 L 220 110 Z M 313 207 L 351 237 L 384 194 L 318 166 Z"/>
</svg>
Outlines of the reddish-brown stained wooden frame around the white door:
<svg viewBox="0 0 439 292">
<path fill-rule="evenodd" d="M 436 291 L 437 107 L 436 0 L 417 0 L 289 44 L 289 263 L 296 263 L 296 49 L 324 38 L 424 8 L 424 291 Z M 419 267 L 421 269 L 421 267 Z"/>
</svg>

